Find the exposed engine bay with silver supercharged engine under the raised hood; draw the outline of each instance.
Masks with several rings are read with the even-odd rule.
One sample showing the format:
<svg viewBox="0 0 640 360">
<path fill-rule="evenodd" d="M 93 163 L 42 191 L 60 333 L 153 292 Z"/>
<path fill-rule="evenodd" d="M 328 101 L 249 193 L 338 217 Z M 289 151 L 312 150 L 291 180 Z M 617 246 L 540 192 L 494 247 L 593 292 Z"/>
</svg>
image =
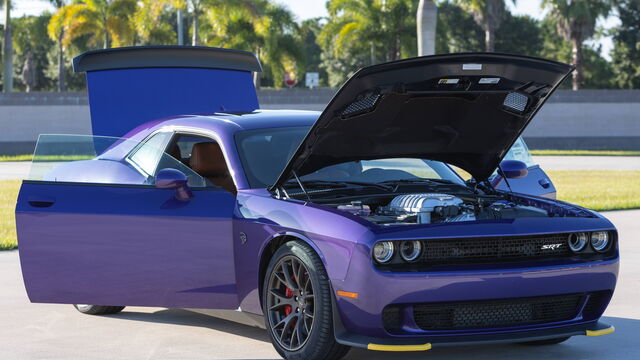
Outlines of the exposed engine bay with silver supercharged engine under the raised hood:
<svg viewBox="0 0 640 360">
<path fill-rule="evenodd" d="M 488 184 L 409 179 L 379 183 L 290 182 L 276 196 L 328 206 L 381 226 L 543 217 L 593 217 L 561 201 L 495 190 Z M 303 186 L 301 186 L 303 185 Z"/>
</svg>

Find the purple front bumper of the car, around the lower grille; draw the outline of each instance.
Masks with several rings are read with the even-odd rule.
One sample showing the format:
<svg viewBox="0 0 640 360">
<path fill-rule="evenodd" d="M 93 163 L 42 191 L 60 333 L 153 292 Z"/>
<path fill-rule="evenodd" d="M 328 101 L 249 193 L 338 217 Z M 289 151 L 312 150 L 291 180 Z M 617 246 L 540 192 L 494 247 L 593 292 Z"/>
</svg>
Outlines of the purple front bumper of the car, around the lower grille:
<svg viewBox="0 0 640 360">
<path fill-rule="evenodd" d="M 616 285 L 618 259 L 570 265 L 514 267 L 441 272 L 382 272 L 375 269 L 364 247 L 354 251 L 344 280 L 332 279 L 339 316 L 339 342 L 361 346 L 475 343 L 485 341 L 533 341 L 585 335 L 603 330 L 598 324 Z M 425 303 L 481 302 L 495 299 L 550 297 L 566 294 L 606 293 L 590 316 L 582 310 L 569 320 L 520 326 L 425 330 L 416 326 L 413 305 Z M 585 295 L 586 298 L 586 295 Z M 584 303 L 583 303 L 584 304 Z M 400 305 L 402 324 L 389 331 L 383 311 Z M 584 309 L 584 307 L 582 307 Z M 606 328 L 606 327 L 605 327 Z M 338 334 L 338 332 L 337 332 Z M 366 340 L 365 340 L 366 339 Z M 360 344 L 360 345 L 357 345 Z M 366 346 L 364 346 L 366 347 Z"/>
</svg>

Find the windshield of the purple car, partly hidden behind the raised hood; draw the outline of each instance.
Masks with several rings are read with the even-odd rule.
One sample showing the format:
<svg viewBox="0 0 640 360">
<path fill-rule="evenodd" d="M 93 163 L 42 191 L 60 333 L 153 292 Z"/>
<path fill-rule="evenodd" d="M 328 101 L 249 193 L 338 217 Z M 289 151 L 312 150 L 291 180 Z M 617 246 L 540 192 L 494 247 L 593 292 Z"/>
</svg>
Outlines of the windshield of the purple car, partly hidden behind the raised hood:
<svg viewBox="0 0 640 360">
<path fill-rule="evenodd" d="M 293 156 L 309 127 L 246 130 L 236 134 L 236 146 L 252 188 L 273 185 Z M 357 181 L 438 179 L 463 184 L 449 166 L 424 159 L 379 159 L 332 165 L 302 176 L 302 181 Z"/>
</svg>

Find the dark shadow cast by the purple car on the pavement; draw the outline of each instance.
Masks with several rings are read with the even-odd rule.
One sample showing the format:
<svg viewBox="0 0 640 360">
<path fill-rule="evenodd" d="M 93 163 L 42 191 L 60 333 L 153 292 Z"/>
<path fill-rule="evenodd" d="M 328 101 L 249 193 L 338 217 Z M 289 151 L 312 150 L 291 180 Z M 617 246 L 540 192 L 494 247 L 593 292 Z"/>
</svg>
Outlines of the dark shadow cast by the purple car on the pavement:
<svg viewBox="0 0 640 360">
<path fill-rule="evenodd" d="M 167 323 L 184 326 L 199 326 L 212 330 L 270 342 L 265 330 L 234 323 L 187 310 L 167 309 L 153 313 L 127 312 L 113 318 L 133 321 Z M 599 337 L 575 336 L 558 345 L 530 346 L 522 344 L 492 344 L 465 346 L 435 346 L 427 352 L 377 352 L 352 349 L 345 360 L 356 359 L 429 359 L 429 360 L 513 360 L 513 359 L 640 359 L 640 346 L 636 344 L 640 333 L 640 320 L 618 317 L 604 317 L 602 321 L 615 326 L 616 332 Z M 399 356 L 401 354 L 401 356 Z"/>
</svg>

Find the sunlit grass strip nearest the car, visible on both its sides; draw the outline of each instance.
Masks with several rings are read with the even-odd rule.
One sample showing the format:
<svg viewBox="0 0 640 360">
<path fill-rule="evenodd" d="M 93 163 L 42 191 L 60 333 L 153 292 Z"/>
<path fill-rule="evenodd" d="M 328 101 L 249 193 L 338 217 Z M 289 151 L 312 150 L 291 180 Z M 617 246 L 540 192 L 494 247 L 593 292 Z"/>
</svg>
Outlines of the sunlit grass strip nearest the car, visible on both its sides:
<svg viewBox="0 0 640 360">
<path fill-rule="evenodd" d="M 597 211 L 640 209 L 640 171 L 547 172 L 558 199 Z M 19 180 L 0 181 L 0 250 L 17 247 L 15 219 Z"/>
</svg>

